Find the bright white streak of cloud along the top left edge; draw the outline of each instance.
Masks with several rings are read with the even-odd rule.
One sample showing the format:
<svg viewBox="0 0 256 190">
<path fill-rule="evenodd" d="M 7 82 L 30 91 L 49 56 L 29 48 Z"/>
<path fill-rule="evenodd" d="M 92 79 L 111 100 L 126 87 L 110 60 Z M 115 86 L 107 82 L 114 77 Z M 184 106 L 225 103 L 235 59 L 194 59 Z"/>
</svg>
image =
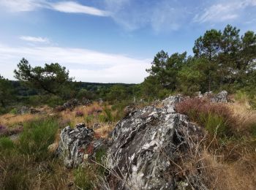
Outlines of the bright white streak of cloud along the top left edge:
<svg viewBox="0 0 256 190">
<path fill-rule="evenodd" d="M 0 5 L 7 7 L 12 12 L 34 11 L 36 9 L 53 9 L 59 12 L 82 13 L 87 15 L 108 16 L 110 13 L 95 7 L 85 6 L 75 1 L 49 0 L 1 0 Z"/>
</svg>

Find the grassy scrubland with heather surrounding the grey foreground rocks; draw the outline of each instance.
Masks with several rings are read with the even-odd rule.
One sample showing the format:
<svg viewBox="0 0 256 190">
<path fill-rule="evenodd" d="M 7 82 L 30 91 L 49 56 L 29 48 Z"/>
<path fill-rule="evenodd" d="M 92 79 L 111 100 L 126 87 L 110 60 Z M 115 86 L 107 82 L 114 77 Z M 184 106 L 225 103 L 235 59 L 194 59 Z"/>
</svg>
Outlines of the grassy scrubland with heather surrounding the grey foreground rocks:
<svg viewBox="0 0 256 190">
<path fill-rule="evenodd" d="M 208 189 L 255 189 L 256 111 L 247 99 L 231 99 L 233 102 L 212 103 L 192 98 L 176 105 L 178 113 L 202 127 L 204 137 L 195 142 L 197 148 L 181 155 L 173 167 L 175 175 L 195 172 Z M 97 152 L 97 161 L 87 168 L 68 170 L 54 155 L 59 133 L 67 125 L 84 122 L 95 128 L 96 138 L 109 138 L 116 122 L 126 115 L 124 104 L 93 102 L 61 112 L 45 110 L 0 116 L 0 189 L 98 189 L 99 176 L 106 170 L 102 166 L 105 150 Z M 99 123 L 97 127 L 95 123 Z M 18 137 L 12 138 L 13 134 Z"/>
</svg>

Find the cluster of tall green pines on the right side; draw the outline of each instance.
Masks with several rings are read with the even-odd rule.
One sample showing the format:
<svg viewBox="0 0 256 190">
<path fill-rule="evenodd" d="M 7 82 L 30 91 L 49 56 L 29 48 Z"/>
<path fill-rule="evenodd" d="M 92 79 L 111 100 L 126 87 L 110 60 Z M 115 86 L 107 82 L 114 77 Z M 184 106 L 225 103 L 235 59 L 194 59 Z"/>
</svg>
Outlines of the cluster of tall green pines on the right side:
<svg viewBox="0 0 256 190">
<path fill-rule="evenodd" d="M 160 51 L 154 57 L 149 76 L 142 84 L 144 96 L 156 97 L 160 89 L 195 91 L 254 91 L 256 83 L 256 34 L 227 25 L 211 29 L 195 40 L 194 57 L 186 53 L 171 56 Z"/>
</svg>

